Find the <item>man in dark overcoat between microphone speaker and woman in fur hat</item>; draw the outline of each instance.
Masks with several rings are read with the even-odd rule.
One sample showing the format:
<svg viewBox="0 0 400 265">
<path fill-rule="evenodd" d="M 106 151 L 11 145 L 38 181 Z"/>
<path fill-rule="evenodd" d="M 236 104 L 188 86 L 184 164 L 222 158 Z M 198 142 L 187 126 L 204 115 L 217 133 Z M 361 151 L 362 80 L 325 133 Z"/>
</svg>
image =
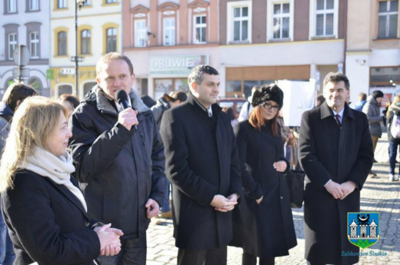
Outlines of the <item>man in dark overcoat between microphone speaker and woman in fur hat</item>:
<svg viewBox="0 0 400 265">
<path fill-rule="evenodd" d="M 223 265 L 232 239 L 232 215 L 242 190 L 230 120 L 216 104 L 218 72 L 193 68 L 188 100 L 164 113 L 161 136 L 179 265 Z"/>
</svg>

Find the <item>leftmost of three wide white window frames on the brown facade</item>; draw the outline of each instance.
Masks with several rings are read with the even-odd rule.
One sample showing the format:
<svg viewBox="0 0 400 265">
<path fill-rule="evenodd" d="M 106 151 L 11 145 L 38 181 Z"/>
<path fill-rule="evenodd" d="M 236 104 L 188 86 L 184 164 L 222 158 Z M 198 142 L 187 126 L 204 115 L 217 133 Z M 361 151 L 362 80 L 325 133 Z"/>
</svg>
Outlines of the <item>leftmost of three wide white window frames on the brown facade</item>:
<svg viewBox="0 0 400 265">
<path fill-rule="evenodd" d="M 248 8 L 247 13 L 247 40 L 234 41 L 234 9 Z M 252 20 L 253 20 L 253 3 L 251 0 L 228 2 L 227 3 L 227 43 L 252 43 Z M 242 20 L 243 21 L 243 20 Z"/>
</svg>

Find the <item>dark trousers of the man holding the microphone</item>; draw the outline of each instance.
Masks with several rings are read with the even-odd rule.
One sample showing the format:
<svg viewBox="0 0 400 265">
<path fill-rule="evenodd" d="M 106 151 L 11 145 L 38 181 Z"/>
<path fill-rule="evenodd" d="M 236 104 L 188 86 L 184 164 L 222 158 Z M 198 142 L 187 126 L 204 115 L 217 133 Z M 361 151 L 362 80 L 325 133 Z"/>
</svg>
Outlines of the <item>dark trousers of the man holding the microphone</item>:
<svg viewBox="0 0 400 265">
<path fill-rule="evenodd" d="M 115 256 L 99 256 L 101 265 L 145 265 L 146 236 L 138 239 L 121 239 L 121 252 Z"/>
</svg>

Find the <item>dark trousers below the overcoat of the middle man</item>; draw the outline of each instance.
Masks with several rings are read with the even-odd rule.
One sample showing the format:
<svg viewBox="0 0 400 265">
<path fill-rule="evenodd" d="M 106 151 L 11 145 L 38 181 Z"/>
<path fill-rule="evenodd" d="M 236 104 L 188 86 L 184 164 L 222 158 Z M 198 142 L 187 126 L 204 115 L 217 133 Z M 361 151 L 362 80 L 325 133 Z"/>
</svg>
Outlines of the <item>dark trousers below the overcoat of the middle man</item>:
<svg viewBox="0 0 400 265">
<path fill-rule="evenodd" d="M 178 250 L 177 265 L 226 265 L 227 247 L 210 250 Z"/>
</svg>

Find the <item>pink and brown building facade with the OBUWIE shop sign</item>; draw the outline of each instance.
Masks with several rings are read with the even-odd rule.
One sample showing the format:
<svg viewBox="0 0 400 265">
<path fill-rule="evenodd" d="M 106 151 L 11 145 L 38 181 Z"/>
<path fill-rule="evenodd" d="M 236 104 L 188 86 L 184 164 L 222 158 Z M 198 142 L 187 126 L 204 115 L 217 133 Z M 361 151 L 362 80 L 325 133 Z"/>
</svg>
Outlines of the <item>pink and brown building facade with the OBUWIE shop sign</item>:
<svg viewBox="0 0 400 265">
<path fill-rule="evenodd" d="M 320 89 L 343 71 L 346 9 L 346 0 L 126 0 L 123 50 L 136 88 L 155 99 L 187 89 L 198 63 L 219 71 L 221 97 L 280 79 L 312 78 Z"/>
</svg>

